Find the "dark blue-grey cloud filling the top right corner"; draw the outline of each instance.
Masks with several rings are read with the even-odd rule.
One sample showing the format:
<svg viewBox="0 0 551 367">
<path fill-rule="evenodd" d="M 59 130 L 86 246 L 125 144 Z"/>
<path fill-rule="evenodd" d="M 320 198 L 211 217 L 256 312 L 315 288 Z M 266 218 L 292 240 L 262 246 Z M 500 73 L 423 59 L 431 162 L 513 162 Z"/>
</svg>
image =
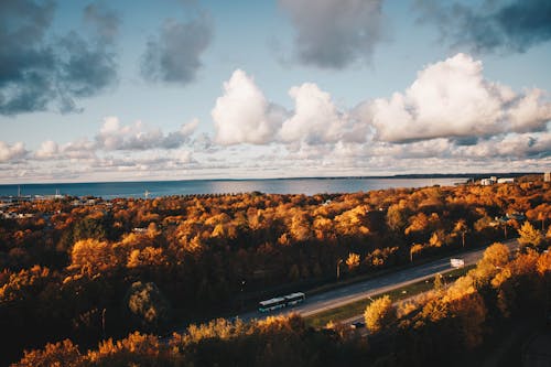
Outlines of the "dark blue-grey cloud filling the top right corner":
<svg viewBox="0 0 551 367">
<path fill-rule="evenodd" d="M 445 3 L 418 0 L 421 20 L 439 26 L 452 46 L 472 52 L 526 52 L 551 40 L 551 2 L 548 0 L 486 0 Z"/>
</svg>

